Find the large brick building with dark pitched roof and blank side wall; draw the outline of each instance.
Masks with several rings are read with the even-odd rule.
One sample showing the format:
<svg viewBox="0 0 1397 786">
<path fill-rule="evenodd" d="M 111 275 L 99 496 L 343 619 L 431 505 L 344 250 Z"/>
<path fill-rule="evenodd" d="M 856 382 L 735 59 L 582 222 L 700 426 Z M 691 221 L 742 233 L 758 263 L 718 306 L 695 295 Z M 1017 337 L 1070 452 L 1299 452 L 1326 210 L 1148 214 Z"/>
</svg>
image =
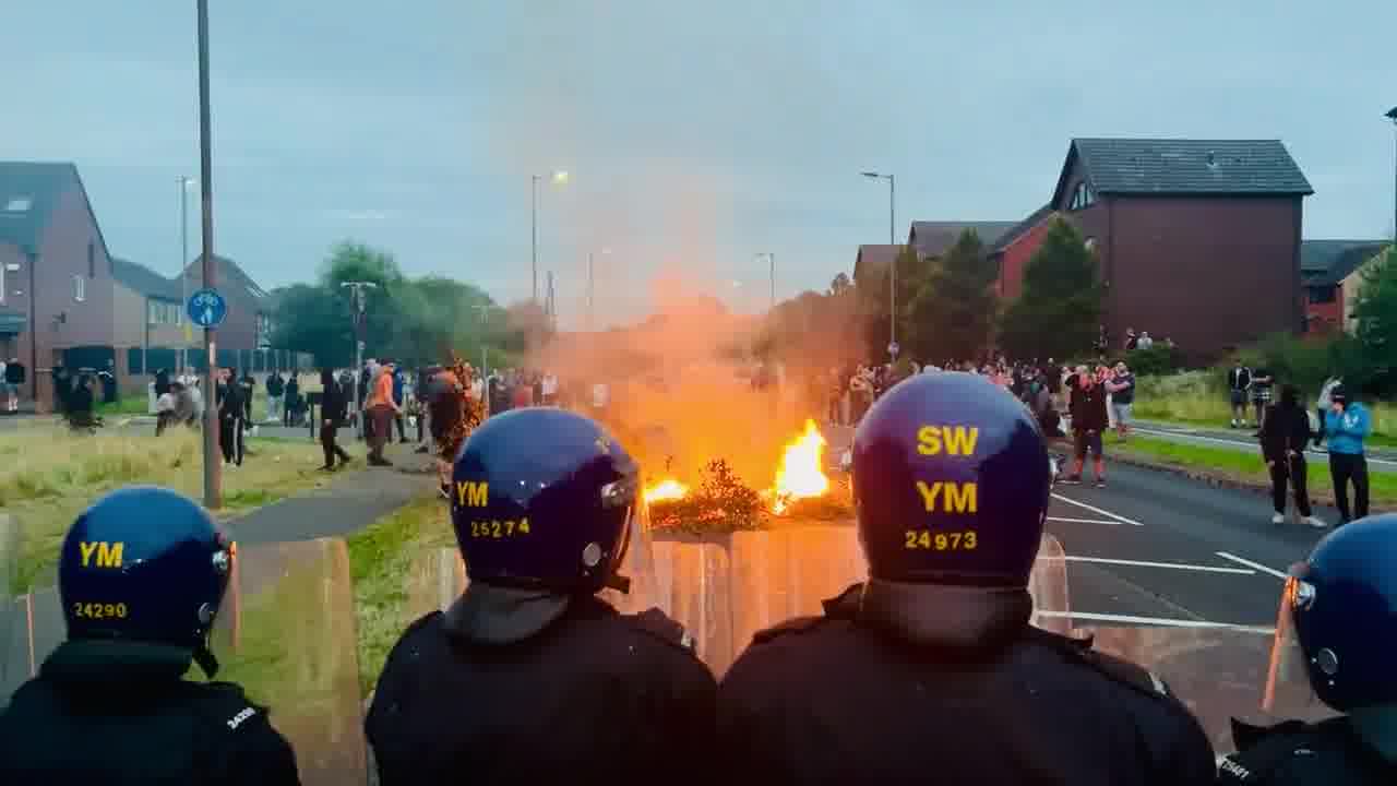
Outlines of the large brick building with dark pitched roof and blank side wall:
<svg viewBox="0 0 1397 786">
<path fill-rule="evenodd" d="M 1076 138 L 1051 204 L 1098 253 L 1112 344 L 1134 327 L 1206 361 L 1302 330 L 1312 193 L 1277 140 Z"/>
</svg>

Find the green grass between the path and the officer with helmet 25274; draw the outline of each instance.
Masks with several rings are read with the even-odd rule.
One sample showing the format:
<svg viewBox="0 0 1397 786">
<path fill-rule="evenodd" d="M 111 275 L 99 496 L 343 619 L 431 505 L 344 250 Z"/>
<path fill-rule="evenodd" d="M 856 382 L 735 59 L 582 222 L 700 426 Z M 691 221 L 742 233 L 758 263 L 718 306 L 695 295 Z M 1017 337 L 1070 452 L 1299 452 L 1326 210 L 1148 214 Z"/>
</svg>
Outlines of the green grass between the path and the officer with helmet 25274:
<svg viewBox="0 0 1397 786">
<path fill-rule="evenodd" d="M 359 689 L 367 695 L 404 628 L 432 608 L 414 590 L 430 569 L 430 555 L 455 545 L 446 503 L 437 496 L 411 502 L 349 538 L 359 632 Z"/>
</svg>

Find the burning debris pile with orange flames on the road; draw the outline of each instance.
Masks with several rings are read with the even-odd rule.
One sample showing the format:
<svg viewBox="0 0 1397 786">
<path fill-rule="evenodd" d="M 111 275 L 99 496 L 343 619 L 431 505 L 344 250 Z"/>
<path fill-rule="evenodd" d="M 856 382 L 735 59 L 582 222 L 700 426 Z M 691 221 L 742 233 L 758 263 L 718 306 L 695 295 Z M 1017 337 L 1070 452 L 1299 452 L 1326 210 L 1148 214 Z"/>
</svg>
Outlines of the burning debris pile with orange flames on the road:
<svg viewBox="0 0 1397 786">
<path fill-rule="evenodd" d="M 644 490 L 657 527 L 680 531 L 735 531 L 771 526 L 774 519 L 847 519 L 851 515 L 847 487 L 831 488 L 824 474 L 827 442 L 807 420 L 799 436 L 787 443 L 771 488 L 757 491 L 722 459 L 708 462 L 697 491 L 666 477 Z"/>
</svg>

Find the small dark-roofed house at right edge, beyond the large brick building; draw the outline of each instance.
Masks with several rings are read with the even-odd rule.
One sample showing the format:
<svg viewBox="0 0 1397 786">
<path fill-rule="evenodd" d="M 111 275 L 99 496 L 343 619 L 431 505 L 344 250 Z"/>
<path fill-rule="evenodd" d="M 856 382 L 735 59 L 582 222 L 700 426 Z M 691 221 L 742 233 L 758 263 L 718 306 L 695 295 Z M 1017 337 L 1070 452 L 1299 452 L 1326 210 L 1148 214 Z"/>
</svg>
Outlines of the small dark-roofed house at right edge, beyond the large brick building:
<svg viewBox="0 0 1397 786">
<path fill-rule="evenodd" d="M 1305 285 L 1305 329 L 1309 333 L 1352 330 L 1354 299 L 1363 271 L 1389 241 L 1305 241 L 1301 243 L 1301 281 Z"/>
</svg>

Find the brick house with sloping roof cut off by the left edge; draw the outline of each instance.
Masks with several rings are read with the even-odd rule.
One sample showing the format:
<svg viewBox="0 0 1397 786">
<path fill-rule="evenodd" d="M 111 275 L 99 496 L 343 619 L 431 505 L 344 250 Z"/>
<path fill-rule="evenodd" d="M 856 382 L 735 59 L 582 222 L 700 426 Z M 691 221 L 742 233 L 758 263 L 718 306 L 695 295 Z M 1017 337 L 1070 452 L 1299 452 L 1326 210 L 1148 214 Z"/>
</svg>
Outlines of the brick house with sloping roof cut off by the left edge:
<svg viewBox="0 0 1397 786">
<path fill-rule="evenodd" d="M 46 411 L 64 355 L 110 358 L 112 262 L 73 164 L 0 162 L 0 354 Z M 91 350 L 91 351 L 89 351 Z"/>
</svg>

